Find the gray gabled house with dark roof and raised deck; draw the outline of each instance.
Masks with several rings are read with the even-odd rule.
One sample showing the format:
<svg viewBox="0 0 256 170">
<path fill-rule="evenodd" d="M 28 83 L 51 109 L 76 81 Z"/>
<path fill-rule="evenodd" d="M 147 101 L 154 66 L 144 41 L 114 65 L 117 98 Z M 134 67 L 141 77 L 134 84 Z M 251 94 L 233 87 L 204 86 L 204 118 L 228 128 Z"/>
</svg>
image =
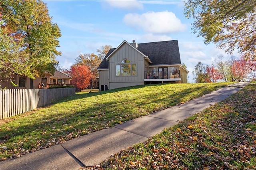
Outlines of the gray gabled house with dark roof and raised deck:
<svg viewBox="0 0 256 170">
<path fill-rule="evenodd" d="M 100 91 L 148 83 L 187 83 L 181 67 L 178 40 L 150 43 L 122 42 L 100 63 Z"/>
</svg>

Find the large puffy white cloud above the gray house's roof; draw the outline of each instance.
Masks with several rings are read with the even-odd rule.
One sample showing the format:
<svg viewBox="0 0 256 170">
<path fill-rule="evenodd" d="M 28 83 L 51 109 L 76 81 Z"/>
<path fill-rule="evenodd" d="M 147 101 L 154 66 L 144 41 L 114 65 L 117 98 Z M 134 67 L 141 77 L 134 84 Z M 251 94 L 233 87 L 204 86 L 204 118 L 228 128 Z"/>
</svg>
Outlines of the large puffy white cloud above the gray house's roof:
<svg viewBox="0 0 256 170">
<path fill-rule="evenodd" d="M 182 32 L 186 29 L 180 19 L 172 12 L 146 12 L 144 14 L 126 14 L 124 24 L 136 29 L 142 29 L 148 33 L 164 34 Z"/>
</svg>

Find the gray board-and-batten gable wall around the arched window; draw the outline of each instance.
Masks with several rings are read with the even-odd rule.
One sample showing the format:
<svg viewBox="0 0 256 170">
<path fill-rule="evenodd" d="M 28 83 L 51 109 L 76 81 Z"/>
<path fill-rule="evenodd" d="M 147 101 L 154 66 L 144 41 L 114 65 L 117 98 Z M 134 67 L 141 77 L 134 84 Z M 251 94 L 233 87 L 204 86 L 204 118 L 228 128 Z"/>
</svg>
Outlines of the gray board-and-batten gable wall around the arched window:
<svg viewBox="0 0 256 170">
<path fill-rule="evenodd" d="M 136 76 L 116 76 L 116 65 L 123 59 L 129 59 L 136 64 Z M 124 43 L 109 57 L 109 89 L 144 84 L 144 56 L 132 46 Z"/>
</svg>

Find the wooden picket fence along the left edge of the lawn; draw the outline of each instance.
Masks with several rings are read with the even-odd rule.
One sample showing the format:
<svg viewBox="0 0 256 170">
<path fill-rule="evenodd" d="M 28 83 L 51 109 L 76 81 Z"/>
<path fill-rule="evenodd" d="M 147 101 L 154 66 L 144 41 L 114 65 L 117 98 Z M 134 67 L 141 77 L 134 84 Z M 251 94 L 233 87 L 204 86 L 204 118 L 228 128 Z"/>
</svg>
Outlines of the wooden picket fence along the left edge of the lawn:
<svg viewBox="0 0 256 170">
<path fill-rule="evenodd" d="M 75 88 L 0 90 L 0 119 L 12 117 L 74 95 Z"/>
</svg>

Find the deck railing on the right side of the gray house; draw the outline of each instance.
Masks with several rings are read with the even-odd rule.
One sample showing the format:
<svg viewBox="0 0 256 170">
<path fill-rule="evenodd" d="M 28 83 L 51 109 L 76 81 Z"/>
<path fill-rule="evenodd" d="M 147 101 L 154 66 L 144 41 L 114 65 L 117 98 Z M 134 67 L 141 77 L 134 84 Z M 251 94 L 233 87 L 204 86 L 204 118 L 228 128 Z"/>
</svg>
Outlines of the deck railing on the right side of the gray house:
<svg viewBox="0 0 256 170">
<path fill-rule="evenodd" d="M 180 70 L 175 71 L 145 71 L 144 79 L 178 79 Z"/>
</svg>

